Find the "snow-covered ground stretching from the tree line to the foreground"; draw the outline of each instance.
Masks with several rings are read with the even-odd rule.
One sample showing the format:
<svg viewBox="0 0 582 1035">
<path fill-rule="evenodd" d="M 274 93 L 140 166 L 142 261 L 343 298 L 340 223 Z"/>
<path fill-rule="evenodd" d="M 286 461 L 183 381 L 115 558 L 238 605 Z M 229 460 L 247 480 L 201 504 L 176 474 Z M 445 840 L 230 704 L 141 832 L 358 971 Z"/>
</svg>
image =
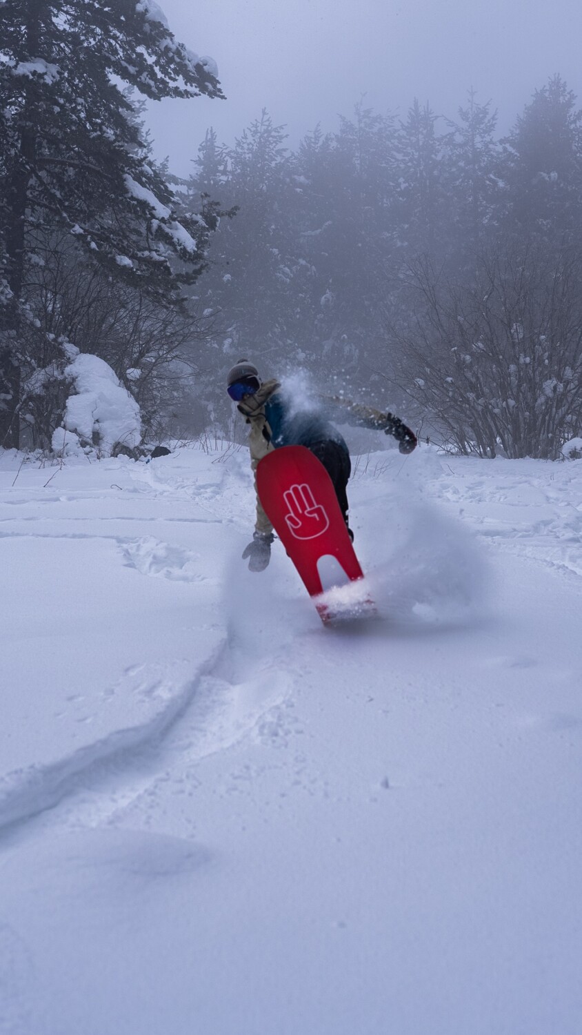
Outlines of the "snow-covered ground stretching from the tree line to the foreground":
<svg viewBox="0 0 582 1035">
<path fill-rule="evenodd" d="M 324 628 L 248 460 L 0 454 L 0 1032 L 579 1035 L 582 461 L 360 457 Z"/>
</svg>

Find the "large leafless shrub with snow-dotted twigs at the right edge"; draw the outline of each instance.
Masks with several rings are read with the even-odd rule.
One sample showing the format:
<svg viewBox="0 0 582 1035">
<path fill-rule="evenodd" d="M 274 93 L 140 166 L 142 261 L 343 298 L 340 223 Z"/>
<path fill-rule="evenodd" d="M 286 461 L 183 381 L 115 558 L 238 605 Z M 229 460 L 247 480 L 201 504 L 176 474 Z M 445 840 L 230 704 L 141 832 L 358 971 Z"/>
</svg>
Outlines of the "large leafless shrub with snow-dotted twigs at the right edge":
<svg viewBox="0 0 582 1035">
<path fill-rule="evenodd" d="M 461 453 L 555 459 L 582 426 L 582 256 L 480 256 L 470 285 L 409 269 L 401 384 Z"/>
</svg>

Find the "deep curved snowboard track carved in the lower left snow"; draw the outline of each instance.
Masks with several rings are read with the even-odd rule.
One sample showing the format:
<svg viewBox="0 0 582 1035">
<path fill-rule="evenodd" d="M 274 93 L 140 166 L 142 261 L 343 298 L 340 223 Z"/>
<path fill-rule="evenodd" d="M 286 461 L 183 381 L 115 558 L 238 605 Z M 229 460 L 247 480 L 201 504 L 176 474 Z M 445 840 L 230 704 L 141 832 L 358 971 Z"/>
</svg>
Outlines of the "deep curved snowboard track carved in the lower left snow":
<svg viewBox="0 0 582 1035">
<path fill-rule="evenodd" d="M 161 674 L 158 679 L 148 672 L 127 674 L 125 686 L 131 681 L 144 696 L 165 693 L 166 706 L 148 723 L 118 731 L 54 766 L 10 773 L 4 788 L 0 782 L 0 840 L 18 835 L 31 820 L 57 806 L 65 828 L 111 822 L 137 795 L 151 794 L 152 785 L 167 782 L 164 767 L 180 760 L 189 769 L 255 728 L 264 742 L 286 746 L 280 721 L 284 679 L 274 685 L 273 667 L 263 668 L 261 673 L 246 667 L 247 682 L 237 677 L 225 641 L 180 692 L 176 677 L 170 681 Z"/>
</svg>

